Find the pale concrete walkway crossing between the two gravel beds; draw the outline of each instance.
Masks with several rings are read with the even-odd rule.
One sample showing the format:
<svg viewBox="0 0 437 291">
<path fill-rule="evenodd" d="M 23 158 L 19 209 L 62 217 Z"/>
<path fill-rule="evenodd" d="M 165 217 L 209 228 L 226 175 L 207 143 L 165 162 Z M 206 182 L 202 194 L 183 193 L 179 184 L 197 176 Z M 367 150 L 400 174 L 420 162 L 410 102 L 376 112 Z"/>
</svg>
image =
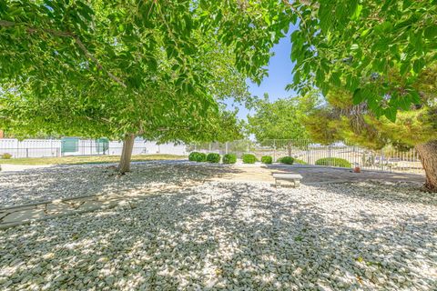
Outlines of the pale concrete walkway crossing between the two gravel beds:
<svg viewBox="0 0 437 291">
<path fill-rule="evenodd" d="M 193 170 L 202 169 L 193 164 Z M 422 184 L 424 177 L 420 175 L 384 173 L 363 171 L 360 174 L 351 173 L 349 169 L 331 168 L 324 166 L 264 166 L 264 165 L 234 165 L 234 166 L 205 166 L 205 171 L 215 169 L 214 176 L 208 176 L 207 181 L 219 182 L 264 182 L 274 183 L 272 173 L 296 173 L 303 176 L 302 185 L 317 186 L 332 183 L 380 181 L 380 182 L 409 182 Z M 207 170 L 208 169 L 208 170 Z M 188 169 L 189 170 L 189 169 Z M 45 220 L 59 216 L 70 216 L 97 209 L 135 204 L 151 194 L 178 191 L 184 187 L 195 186 L 201 181 L 187 180 L 182 184 L 158 186 L 140 189 L 117 195 L 76 196 L 66 199 L 39 202 L 23 206 L 0 208 L 0 229 L 29 224 L 38 220 Z"/>
</svg>

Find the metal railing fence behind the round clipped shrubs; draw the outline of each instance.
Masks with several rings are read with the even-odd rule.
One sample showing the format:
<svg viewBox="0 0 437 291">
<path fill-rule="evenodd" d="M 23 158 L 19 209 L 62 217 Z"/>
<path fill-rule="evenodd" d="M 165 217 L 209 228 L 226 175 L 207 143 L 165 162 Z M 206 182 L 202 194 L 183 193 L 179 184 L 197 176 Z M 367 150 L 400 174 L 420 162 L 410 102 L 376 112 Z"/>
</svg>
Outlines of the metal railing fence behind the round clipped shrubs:
<svg viewBox="0 0 437 291">
<path fill-rule="evenodd" d="M 275 162 L 281 156 L 292 156 L 296 159 L 296 163 L 306 165 L 316 165 L 316 162 L 321 158 L 341 158 L 349 162 L 351 166 L 360 166 L 362 169 L 424 174 L 420 157 L 414 148 L 408 151 L 399 151 L 387 146 L 381 150 L 371 150 L 361 146 L 349 146 L 342 142 L 323 146 L 306 140 L 276 139 L 260 143 L 239 140 L 188 146 L 188 152 L 195 150 L 221 155 L 233 153 L 239 157 L 244 153 L 251 153 L 259 159 L 261 156 L 272 156 Z M 328 161 L 330 160 L 328 159 Z"/>
</svg>

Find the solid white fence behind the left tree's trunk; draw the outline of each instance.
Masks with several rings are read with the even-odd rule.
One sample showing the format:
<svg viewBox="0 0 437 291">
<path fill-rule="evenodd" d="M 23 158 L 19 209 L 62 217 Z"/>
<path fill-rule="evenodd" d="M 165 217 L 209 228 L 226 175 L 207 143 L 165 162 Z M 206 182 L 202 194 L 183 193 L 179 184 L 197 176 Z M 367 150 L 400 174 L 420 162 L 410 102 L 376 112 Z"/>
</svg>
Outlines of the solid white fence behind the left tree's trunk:
<svg viewBox="0 0 437 291">
<path fill-rule="evenodd" d="M 19 141 L 15 138 L 0 139 L 0 156 L 4 154 L 17 157 L 46 157 L 46 156 L 120 156 L 123 149 L 121 141 L 109 141 L 105 146 L 93 139 L 75 140 L 74 146 L 66 150 L 60 139 L 25 139 Z M 185 145 L 173 143 L 158 145 L 156 142 L 136 140 L 133 155 L 167 154 L 186 156 Z"/>
</svg>

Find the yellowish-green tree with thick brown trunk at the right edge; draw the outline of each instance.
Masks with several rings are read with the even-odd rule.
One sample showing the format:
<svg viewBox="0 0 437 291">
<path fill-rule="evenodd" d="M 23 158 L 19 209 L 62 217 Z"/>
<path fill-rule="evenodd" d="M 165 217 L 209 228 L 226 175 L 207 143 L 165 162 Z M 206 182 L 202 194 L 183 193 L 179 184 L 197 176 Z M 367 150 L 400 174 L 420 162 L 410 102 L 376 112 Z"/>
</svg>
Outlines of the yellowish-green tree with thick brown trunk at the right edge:
<svg viewBox="0 0 437 291">
<path fill-rule="evenodd" d="M 395 122 L 378 118 L 365 104 L 354 105 L 347 90 L 333 88 L 325 105 L 315 107 L 304 124 L 314 140 L 325 144 L 347 140 L 373 149 L 391 145 L 400 151 L 414 146 L 426 173 L 424 188 L 437 192 L 436 84 L 437 67 L 423 70 L 412 84 L 420 92 L 422 105 L 399 112 Z"/>
</svg>

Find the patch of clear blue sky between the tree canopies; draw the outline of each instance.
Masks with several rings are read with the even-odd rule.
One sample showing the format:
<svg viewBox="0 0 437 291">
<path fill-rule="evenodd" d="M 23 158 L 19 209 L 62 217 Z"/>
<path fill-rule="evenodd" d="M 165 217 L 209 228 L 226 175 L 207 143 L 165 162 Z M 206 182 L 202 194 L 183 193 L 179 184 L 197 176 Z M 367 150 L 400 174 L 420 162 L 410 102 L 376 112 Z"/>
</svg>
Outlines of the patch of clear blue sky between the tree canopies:
<svg viewBox="0 0 437 291">
<path fill-rule="evenodd" d="M 285 90 L 285 86 L 290 84 L 293 79 L 291 70 L 294 65 L 290 60 L 290 33 L 292 31 L 293 29 L 290 27 L 289 34 L 273 47 L 274 55 L 270 58 L 268 67 L 269 76 L 265 77 L 260 85 L 248 81 L 251 95 L 262 97 L 264 93 L 268 93 L 270 101 L 294 95 L 294 92 Z M 248 113 L 249 111 L 244 106 L 239 106 L 239 118 L 246 119 Z"/>
</svg>

